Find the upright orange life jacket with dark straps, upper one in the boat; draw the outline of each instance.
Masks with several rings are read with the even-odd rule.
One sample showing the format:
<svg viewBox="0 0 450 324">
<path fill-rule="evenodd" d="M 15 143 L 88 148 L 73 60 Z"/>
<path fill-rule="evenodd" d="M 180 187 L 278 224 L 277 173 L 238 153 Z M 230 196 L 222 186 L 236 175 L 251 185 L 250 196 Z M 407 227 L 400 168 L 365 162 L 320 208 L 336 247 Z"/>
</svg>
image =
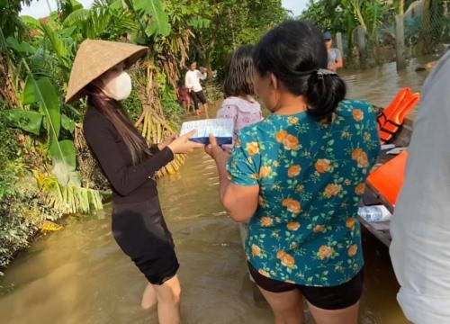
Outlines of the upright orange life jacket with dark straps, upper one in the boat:
<svg viewBox="0 0 450 324">
<path fill-rule="evenodd" d="M 392 136 L 400 129 L 405 118 L 419 102 L 420 94 L 412 94 L 410 88 L 403 88 L 395 96 L 392 103 L 383 110 L 378 119 L 379 135 L 382 143 L 392 139 Z"/>
</svg>

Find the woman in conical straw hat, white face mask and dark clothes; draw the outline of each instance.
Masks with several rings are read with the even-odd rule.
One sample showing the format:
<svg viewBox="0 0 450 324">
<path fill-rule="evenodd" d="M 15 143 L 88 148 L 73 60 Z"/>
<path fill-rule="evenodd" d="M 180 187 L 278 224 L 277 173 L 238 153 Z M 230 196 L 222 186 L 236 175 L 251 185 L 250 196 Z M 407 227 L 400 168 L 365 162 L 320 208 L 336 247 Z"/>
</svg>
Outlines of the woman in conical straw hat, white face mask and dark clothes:
<svg viewBox="0 0 450 324">
<path fill-rule="evenodd" d="M 136 45 L 85 40 L 76 53 L 66 103 L 87 96 L 84 134 L 112 187 L 112 235 L 148 279 L 141 306 L 157 303 L 160 323 L 178 323 L 179 265 L 152 176 L 175 154 L 202 145 L 188 140 L 193 131 L 148 147 L 133 126 L 121 104 L 131 92 L 124 70 L 146 53 Z"/>
</svg>

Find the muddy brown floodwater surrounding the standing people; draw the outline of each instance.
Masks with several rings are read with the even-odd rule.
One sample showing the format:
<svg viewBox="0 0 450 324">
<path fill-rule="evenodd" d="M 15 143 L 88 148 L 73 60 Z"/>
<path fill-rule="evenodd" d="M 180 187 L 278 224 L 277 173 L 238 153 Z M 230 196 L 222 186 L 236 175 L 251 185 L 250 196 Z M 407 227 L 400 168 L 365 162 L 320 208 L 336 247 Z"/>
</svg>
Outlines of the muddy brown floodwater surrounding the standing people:
<svg viewBox="0 0 450 324">
<path fill-rule="evenodd" d="M 427 73 L 416 73 L 414 65 L 400 74 L 393 64 L 343 72 L 348 97 L 385 105 L 403 86 L 420 91 Z M 218 184 L 215 166 L 202 151 L 158 183 L 181 264 L 183 322 L 273 323 L 271 311 L 248 279 L 238 225 L 220 206 Z M 146 282 L 113 241 L 111 206 L 64 222 L 63 230 L 38 238 L 5 271 L 0 279 L 0 321 L 157 323 L 156 311 L 139 309 Z M 399 286 L 387 247 L 365 233 L 364 248 L 360 322 L 408 323 L 396 302 Z"/>
</svg>

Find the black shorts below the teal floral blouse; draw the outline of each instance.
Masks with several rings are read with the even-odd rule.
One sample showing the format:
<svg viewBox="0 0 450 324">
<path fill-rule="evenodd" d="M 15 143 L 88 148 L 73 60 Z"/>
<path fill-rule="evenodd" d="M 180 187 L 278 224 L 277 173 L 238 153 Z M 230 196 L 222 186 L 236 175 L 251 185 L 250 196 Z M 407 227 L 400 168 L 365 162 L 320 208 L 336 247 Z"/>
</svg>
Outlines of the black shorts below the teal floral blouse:
<svg viewBox="0 0 450 324">
<path fill-rule="evenodd" d="M 248 270 L 255 283 L 264 290 L 271 293 L 284 293 L 298 289 L 311 305 L 322 310 L 332 311 L 345 309 L 355 305 L 363 294 L 364 269 L 361 269 L 347 283 L 332 287 L 314 287 L 284 283 L 259 274 L 257 269 L 250 265 L 250 263 L 248 263 Z"/>
</svg>

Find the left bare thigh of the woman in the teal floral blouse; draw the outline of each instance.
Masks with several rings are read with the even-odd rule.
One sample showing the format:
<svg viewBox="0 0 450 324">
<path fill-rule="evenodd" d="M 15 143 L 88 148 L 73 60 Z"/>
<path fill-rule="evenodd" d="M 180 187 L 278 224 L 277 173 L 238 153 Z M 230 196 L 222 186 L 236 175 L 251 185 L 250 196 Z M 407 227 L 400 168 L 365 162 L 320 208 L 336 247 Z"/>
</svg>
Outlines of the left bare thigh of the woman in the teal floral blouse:
<svg viewBox="0 0 450 324">
<path fill-rule="evenodd" d="M 275 324 L 303 324 L 303 296 L 298 289 L 271 293 L 259 287 L 275 315 Z"/>
</svg>

